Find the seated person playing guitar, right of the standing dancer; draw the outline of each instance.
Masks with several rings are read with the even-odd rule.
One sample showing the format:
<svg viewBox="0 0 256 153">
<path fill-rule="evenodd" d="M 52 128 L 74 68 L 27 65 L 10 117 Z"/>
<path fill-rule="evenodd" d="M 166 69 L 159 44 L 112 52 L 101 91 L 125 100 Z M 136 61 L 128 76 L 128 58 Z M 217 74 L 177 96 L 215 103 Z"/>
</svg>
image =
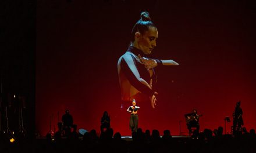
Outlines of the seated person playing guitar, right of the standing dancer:
<svg viewBox="0 0 256 153">
<path fill-rule="evenodd" d="M 189 129 L 189 133 L 191 133 L 191 128 L 197 128 L 197 132 L 199 132 L 199 117 L 200 115 L 197 114 L 197 110 L 195 109 L 191 113 L 185 114 L 187 129 Z"/>
</svg>

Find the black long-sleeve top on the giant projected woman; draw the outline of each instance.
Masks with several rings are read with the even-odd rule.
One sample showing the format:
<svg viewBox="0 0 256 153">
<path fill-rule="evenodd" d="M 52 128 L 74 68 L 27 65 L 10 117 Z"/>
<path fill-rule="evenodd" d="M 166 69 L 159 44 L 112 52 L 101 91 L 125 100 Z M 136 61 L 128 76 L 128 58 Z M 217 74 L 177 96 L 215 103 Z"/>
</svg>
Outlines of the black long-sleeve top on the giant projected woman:
<svg viewBox="0 0 256 153">
<path fill-rule="evenodd" d="M 140 62 L 138 54 L 143 57 L 147 56 L 141 50 L 129 46 L 126 53 L 123 54 L 118 61 L 119 83 L 123 101 L 131 101 L 131 97 L 139 92 L 147 94 L 148 96 L 152 96 L 155 92 L 154 85 L 157 82 L 155 70 L 152 69 L 148 71 L 147 68 L 144 67 L 144 64 Z M 158 65 L 162 65 L 161 60 L 155 60 Z M 150 75 L 150 72 L 152 72 L 152 75 Z M 148 85 L 150 85 L 151 79 L 152 86 L 150 89 Z M 143 80 L 147 82 L 148 85 L 145 85 Z"/>
</svg>

